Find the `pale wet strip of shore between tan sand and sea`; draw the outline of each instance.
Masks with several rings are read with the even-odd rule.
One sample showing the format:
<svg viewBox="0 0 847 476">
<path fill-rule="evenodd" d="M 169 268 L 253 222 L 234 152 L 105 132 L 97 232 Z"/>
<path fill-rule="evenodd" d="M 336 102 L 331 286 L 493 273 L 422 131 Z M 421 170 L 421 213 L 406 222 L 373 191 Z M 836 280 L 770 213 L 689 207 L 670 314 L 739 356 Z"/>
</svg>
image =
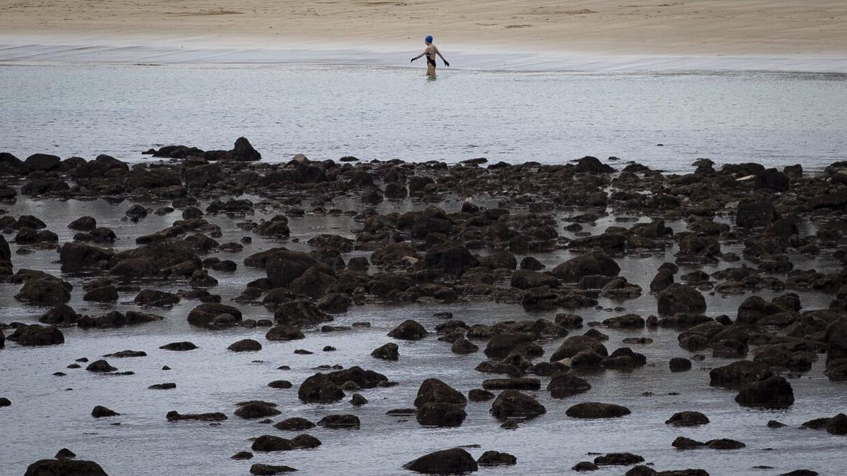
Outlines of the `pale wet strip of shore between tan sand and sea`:
<svg viewBox="0 0 847 476">
<path fill-rule="evenodd" d="M 397 48 L 363 45 L 340 47 L 312 42 L 295 47 L 262 47 L 250 42 L 209 43 L 197 40 L 71 39 L 50 36 L 0 35 L 3 64 L 145 64 L 145 65 L 273 65 L 312 64 L 412 67 L 411 54 Z M 579 51 L 493 53 L 471 45 L 451 47 L 453 70 L 514 72 L 778 72 L 847 74 L 844 54 L 609 54 Z M 446 69 L 445 70 L 450 70 Z"/>
</svg>

